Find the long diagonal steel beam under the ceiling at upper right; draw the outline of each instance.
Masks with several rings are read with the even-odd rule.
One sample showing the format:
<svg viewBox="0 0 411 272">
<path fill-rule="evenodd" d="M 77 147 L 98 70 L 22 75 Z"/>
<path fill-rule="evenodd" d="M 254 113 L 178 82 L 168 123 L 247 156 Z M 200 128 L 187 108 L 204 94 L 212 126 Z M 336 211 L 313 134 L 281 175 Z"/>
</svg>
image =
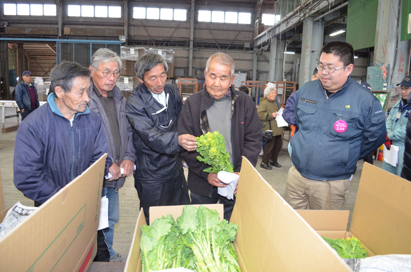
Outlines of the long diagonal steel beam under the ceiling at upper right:
<svg viewBox="0 0 411 272">
<path fill-rule="evenodd" d="M 339 4 L 344 0 L 335 0 L 333 4 Z M 346 2 L 346 1 L 345 1 Z M 309 16 L 320 12 L 330 6 L 329 0 L 307 0 L 292 12 L 281 18 L 281 21 L 272 27 L 261 32 L 254 38 L 254 47 L 260 47 L 264 43 L 270 43 L 273 37 L 279 36 L 282 33 L 292 29 L 296 25 L 303 22 Z"/>
</svg>

